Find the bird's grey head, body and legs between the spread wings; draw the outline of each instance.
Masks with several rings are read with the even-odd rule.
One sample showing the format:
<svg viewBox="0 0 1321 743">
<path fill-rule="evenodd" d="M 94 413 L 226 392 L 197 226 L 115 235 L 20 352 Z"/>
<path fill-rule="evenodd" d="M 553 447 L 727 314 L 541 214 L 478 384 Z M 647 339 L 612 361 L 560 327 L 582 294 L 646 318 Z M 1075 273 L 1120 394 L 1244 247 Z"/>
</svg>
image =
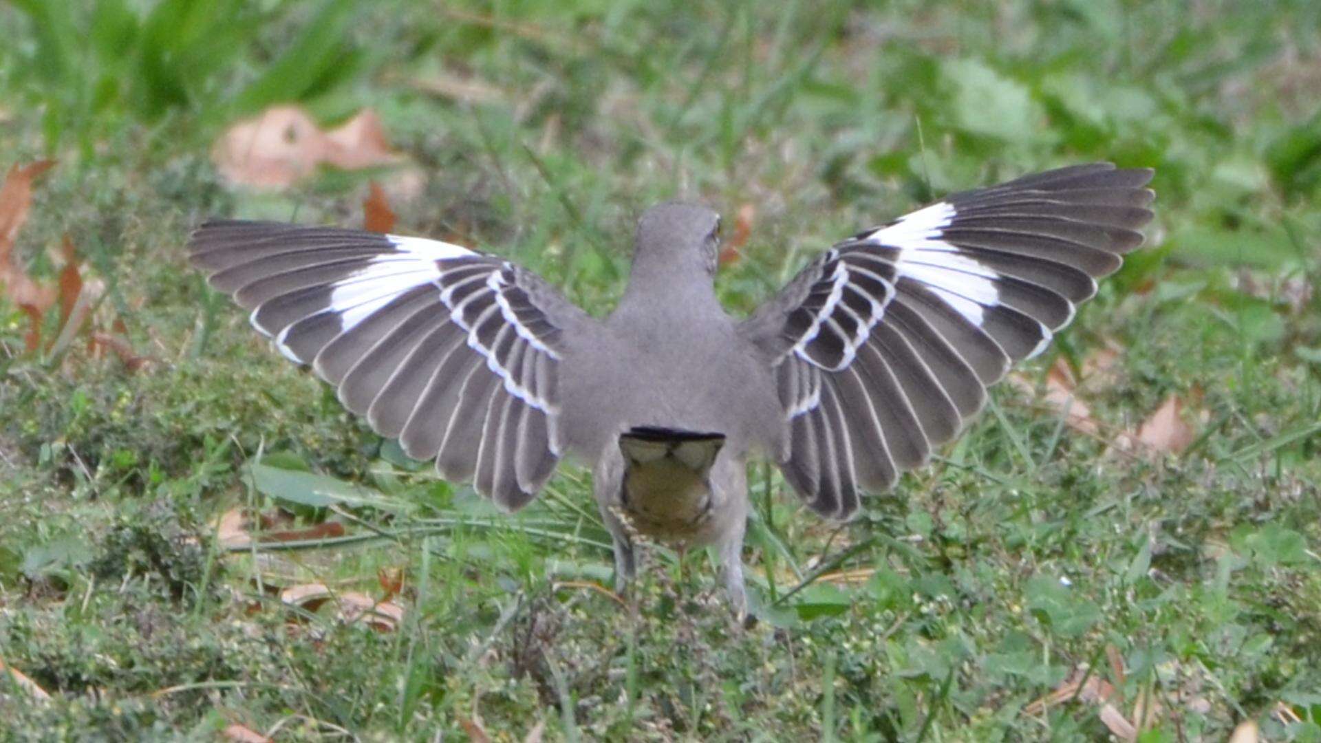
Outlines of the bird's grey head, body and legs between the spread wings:
<svg viewBox="0 0 1321 743">
<path fill-rule="evenodd" d="M 639 219 L 633 276 L 620 305 L 597 332 L 580 336 L 584 345 L 565 350 L 560 426 L 569 452 L 593 465 L 618 575 L 634 571 L 637 535 L 680 549 L 717 545 L 727 558 L 727 586 L 742 608 L 746 461 L 750 453 L 774 455 L 783 426 L 770 365 L 716 297 L 717 227 L 715 212 L 688 204 L 662 204 Z M 616 414 L 601 416 L 602 409 Z M 731 418 L 731 409 L 742 414 Z M 647 480 L 657 492 L 625 497 L 620 436 L 643 426 L 725 436 L 711 471 L 701 473 L 708 516 L 687 518 L 690 498 L 703 494 L 680 490 L 678 476 Z M 651 510 L 670 502 L 675 518 L 658 526 L 635 513 L 642 502 Z"/>
</svg>

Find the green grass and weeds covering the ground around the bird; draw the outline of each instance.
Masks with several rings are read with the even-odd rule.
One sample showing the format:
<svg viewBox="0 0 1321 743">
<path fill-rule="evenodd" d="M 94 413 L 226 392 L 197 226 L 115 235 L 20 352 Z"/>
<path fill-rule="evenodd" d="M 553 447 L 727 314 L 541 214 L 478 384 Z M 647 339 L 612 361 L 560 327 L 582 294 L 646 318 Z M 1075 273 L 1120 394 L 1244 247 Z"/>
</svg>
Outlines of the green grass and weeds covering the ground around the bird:
<svg viewBox="0 0 1321 743">
<path fill-rule="evenodd" d="M 520 740 L 1096 739 L 1098 705 L 1028 705 L 1071 673 L 1161 711 L 1143 740 L 1321 740 L 1321 9 L 1314 3 L 0 5 L 0 168 L 41 156 L 18 253 L 69 234 L 155 362 L 22 353 L 0 299 L 5 738 Z M 444 71 L 499 93 L 425 93 Z M 1119 344 L 1079 395 L 993 406 L 841 530 L 753 469 L 764 621 L 734 628 L 708 555 L 653 550 L 609 584 L 588 476 L 515 518 L 400 459 L 188 270 L 209 214 L 353 225 L 366 176 L 234 190 L 207 153 L 296 100 L 379 111 L 424 175 L 402 231 L 458 235 L 604 313 L 635 215 L 756 205 L 721 296 L 746 312 L 816 250 L 952 189 L 1089 160 L 1157 169 L 1151 247 L 1026 366 Z M 375 173 L 380 177 L 380 173 Z M 388 178 L 388 175 L 386 176 Z M 1180 457 L 1111 451 L 1176 394 Z M 271 471 L 255 472 L 264 457 Z M 291 475 L 309 471 L 316 476 Z M 317 487 L 309 488 L 309 477 Z M 357 488 L 351 488 L 357 485 Z M 346 538 L 227 551 L 223 512 L 334 518 Z M 283 529 L 285 526 L 273 526 Z M 382 594 L 394 632 L 283 607 Z M 838 579 L 841 570 L 859 580 Z M 823 575 L 826 578 L 823 578 Z M 1123 660 L 1114 674 L 1107 652 Z M 1087 670 L 1081 670 L 1083 666 Z M 1283 702 L 1303 722 L 1281 721 Z"/>
</svg>

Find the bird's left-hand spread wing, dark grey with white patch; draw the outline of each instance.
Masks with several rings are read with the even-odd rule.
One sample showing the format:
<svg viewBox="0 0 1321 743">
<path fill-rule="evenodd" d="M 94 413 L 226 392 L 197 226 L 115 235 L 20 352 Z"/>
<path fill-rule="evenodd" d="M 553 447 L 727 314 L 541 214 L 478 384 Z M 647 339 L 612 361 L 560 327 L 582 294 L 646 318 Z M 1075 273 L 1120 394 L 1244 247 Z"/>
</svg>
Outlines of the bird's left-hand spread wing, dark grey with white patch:
<svg viewBox="0 0 1321 743">
<path fill-rule="evenodd" d="M 592 320 L 535 274 L 439 241 L 211 221 L 189 243 L 210 284 L 350 411 L 506 509 L 561 456 L 556 372 Z"/>
</svg>

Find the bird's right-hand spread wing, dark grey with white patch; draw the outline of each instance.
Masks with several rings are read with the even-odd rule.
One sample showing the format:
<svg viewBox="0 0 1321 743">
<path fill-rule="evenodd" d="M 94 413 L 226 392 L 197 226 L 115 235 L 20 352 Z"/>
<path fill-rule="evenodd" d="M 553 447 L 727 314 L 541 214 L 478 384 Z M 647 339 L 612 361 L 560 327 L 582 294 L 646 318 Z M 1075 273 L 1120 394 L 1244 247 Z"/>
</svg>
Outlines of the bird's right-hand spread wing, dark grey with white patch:
<svg viewBox="0 0 1321 743">
<path fill-rule="evenodd" d="M 955 438 L 1141 245 L 1151 177 L 1098 163 L 948 196 L 835 245 L 744 321 L 773 360 L 799 496 L 848 518 L 860 489 Z"/>
</svg>

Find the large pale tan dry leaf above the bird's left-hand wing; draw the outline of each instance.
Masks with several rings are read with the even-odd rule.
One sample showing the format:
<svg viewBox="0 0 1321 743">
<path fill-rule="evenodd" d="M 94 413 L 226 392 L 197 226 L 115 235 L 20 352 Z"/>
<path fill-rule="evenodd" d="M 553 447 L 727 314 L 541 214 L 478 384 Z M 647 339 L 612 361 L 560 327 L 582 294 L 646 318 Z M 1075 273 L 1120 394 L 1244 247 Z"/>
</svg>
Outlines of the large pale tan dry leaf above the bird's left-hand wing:
<svg viewBox="0 0 1321 743">
<path fill-rule="evenodd" d="M 289 186 L 321 165 L 353 171 L 402 160 L 390 149 L 374 112 L 361 111 L 343 126 L 322 131 L 297 106 L 276 106 L 238 122 L 215 143 L 211 159 L 230 181 L 260 188 Z"/>
</svg>

